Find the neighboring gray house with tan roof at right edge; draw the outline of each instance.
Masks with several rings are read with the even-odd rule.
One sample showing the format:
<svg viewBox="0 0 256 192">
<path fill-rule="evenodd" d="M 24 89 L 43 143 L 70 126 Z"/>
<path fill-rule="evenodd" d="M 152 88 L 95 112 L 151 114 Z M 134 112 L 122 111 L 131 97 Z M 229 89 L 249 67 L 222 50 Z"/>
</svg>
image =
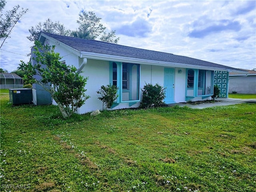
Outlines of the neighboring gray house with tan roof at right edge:
<svg viewBox="0 0 256 192">
<path fill-rule="evenodd" d="M 244 70 L 247 74 L 237 72 L 229 73 L 229 89 L 228 92 L 237 92 L 243 94 L 256 94 L 256 71 Z"/>
</svg>

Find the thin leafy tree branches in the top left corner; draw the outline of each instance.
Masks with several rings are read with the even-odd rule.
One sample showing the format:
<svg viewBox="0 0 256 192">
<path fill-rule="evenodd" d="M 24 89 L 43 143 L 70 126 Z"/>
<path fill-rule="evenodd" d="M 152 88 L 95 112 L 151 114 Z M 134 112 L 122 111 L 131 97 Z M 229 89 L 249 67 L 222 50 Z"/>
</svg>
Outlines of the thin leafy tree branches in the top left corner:
<svg viewBox="0 0 256 192">
<path fill-rule="evenodd" d="M 6 11 L 3 16 L 3 9 L 6 5 L 5 0 L 0 0 L 0 40 L 1 46 L 4 44 L 5 40 L 10 37 L 10 33 L 16 23 L 22 18 L 24 14 L 28 11 L 28 9 L 21 8 L 19 11 L 20 6 L 14 6 L 12 10 Z"/>
</svg>

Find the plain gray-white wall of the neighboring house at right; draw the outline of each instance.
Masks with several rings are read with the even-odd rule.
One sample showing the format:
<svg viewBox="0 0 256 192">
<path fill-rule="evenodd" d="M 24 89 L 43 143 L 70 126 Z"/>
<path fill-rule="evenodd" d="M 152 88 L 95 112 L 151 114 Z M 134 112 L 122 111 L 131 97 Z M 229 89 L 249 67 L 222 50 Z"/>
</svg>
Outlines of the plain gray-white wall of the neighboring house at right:
<svg viewBox="0 0 256 192">
<path fill-rule="evenodd" d="M 242 94 L 256 94 L 256 75 L 230 76 L 228 92 L 236 91 Z"/>
</svg>

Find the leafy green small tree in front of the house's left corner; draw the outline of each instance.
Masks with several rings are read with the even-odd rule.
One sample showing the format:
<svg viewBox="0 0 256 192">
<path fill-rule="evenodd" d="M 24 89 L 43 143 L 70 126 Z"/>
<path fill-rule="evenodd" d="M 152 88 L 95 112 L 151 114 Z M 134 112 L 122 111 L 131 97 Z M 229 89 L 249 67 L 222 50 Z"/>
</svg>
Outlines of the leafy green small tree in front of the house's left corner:
<svg viewBox="0 0 256 192">
<path fill-rule="evenodd" d="M 50 92 L 62 116 L 68 118 L 89 98 L 84 93 L 88 78 L 81 76 L 74 66 L 60 62 L 60 54 L 54 52 L 55 46 L 42 46 L 39 41 L 35 41 L 35 44 L 36 58 L 32 59 L 36 64 L 32 66 L 30 62 L 25 64 L 22 61 L 26 70 L 24 79 L 27 83 L 39 84 Z M 35 79 L 36 74 L 41 79 Z"/>
</svg>

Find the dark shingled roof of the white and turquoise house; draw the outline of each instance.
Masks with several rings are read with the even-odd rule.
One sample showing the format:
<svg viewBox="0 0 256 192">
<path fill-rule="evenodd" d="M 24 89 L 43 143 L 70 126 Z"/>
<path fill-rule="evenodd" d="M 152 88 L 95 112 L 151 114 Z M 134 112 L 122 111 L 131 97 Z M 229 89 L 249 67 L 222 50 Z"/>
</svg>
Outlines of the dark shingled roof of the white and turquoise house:
<svg viewBox="0 0 256 192">
<path fill-rule="evenodd" d="M 122 56 L 129 58 L 138 58 L 138 59 L 146 59 L 152 61 L 160 61 L 160 62 L 172 62 L 172 63 L 180 63 L 180 64 L 188 64 L 191 66 L 204 66 L 204 67 L 213 67 L 213 68 L 222 68 L 227 70 L 236 70 L 239 69 L 207 62 L 195 58 L 190 58 L 186 56 L 174 55 L 170 53 L 139 49 L 134 47 L 128 47 L 118 44 L 106 43 L 96 40 L 88 40 L 81 38 L 74 38 L 62 35 L 51 34 L 47 32 L 41 32 L 46 34 L 49 37 L 52 37 L 72 48 L 75 48 L 81 52 L 93 52 L 114 56 Z"/>
</svg>

